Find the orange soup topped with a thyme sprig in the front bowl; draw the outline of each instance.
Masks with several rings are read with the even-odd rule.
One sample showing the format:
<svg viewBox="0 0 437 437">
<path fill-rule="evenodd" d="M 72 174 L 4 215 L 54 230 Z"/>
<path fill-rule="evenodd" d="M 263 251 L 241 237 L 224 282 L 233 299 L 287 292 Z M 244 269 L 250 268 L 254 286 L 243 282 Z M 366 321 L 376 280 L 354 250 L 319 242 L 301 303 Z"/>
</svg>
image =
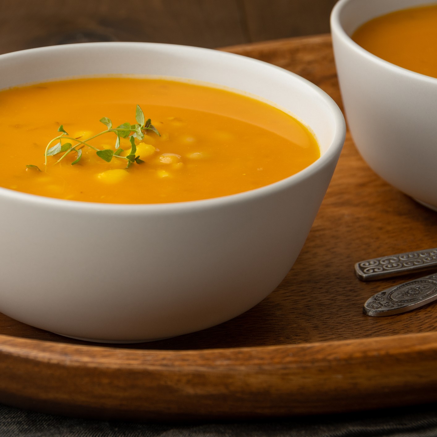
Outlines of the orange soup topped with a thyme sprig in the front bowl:
<svg viewBox="0 0 437 437">
<path fill-rule="evenodd" d="M 82 78 L 0 96 L 0 186 L 25 193 L 200 200 L 271 184 L 320 156 L 311 132 L 284 111 L 194 83 Z"/>
</svg>

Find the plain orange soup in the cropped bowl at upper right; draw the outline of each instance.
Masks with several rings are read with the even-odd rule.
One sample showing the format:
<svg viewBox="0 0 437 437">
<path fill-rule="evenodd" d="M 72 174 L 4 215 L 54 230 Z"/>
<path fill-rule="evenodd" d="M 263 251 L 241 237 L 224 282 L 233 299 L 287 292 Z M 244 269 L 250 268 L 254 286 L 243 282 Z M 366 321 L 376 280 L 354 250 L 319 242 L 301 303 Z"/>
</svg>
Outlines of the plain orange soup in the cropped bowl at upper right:
<svg viewBox="0 0 437 437">
<path fill-rule="evenodd" d="M 352 39 L 388 62 L 437 77 L 437 3 L 374 18 Z"/>
</svg>

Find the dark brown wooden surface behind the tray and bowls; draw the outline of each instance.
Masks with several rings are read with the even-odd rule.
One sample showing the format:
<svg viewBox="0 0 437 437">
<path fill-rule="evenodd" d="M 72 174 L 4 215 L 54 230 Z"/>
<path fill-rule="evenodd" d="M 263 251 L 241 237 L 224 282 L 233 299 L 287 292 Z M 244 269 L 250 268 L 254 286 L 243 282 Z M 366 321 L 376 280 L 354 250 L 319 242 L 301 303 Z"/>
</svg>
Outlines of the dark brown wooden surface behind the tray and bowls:
<svg viewBox="0 0 437 437">
<path fill-rule="evenodd" d="M 145 41 L 222 47 L 329 31 L 336 0 L 0 0 L 0 53 Z"/>
</svg>

